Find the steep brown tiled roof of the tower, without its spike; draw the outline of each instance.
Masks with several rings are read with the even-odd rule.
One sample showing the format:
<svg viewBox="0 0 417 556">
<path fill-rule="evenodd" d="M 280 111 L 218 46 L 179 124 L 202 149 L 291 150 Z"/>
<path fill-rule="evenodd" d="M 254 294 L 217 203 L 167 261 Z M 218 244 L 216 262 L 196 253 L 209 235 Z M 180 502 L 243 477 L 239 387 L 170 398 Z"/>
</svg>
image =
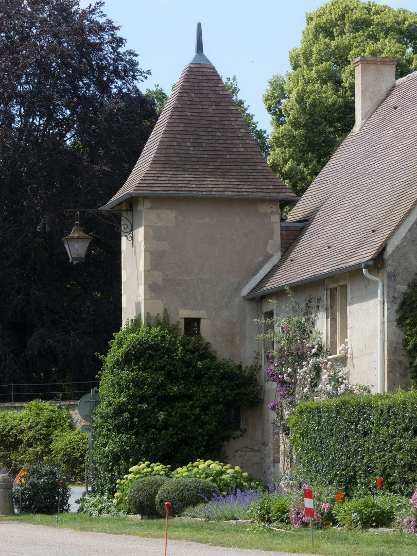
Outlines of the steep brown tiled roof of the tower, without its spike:
<svg viewBox="0 0 417 556">
<path fill-rule="evenodd" d="M 103 209 L 132 196 L 297 200 L 268 166 L 216 68 L 197 54 L 125 185 Z"/>
</svg>

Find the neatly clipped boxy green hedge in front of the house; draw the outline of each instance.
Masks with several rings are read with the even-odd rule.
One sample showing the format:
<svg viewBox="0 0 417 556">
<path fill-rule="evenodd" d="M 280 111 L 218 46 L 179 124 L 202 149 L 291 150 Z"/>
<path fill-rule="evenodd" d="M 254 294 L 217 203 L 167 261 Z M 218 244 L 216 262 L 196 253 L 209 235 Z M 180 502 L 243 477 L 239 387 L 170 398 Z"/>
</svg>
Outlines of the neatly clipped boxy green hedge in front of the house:
<svg viewBox="0 0 417 556">
<path fill-rule="evenodd" d="M 411 495 L 417 485 L 417 391 L 301 403 L 289 419 L 298 471 L 347 493 Z"/>
</svg>

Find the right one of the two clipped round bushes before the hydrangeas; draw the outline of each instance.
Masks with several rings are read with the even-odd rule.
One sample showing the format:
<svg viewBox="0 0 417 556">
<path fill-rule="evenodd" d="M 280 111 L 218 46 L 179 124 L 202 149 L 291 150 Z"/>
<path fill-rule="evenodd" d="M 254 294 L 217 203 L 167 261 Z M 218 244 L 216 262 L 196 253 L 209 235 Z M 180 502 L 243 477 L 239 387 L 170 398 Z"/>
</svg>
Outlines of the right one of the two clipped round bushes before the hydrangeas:
<svg viewBox="0 0 417 556">
<path fill-rule="evenodd" d="M 204 479 L 171 479 L 158 490 L 156 509 L 165 515 L 165 502 L 171 502 L 170 514 L 180 515 L 190 506 L 205 502 L 204 498 L 211 500 L 215 490 L 215 486 Z"/>
</svg>

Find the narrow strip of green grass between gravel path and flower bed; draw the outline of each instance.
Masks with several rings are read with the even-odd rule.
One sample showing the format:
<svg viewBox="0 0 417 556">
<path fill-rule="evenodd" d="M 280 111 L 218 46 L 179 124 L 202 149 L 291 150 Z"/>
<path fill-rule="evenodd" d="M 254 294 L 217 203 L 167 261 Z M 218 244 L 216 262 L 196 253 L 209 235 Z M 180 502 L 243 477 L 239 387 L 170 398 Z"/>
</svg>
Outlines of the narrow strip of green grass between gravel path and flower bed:
<svg viewBox="0 0 417 556">
<path fill-rule="evenodd" d="M 2 520 L 65 527 L 77 531 L 138 535 L 140 537 L 165 537 L 165 520 L 133 522 L 126 518 L 90 518 L 83 514 L 19 515 L 0 517 Z M 408 534 L 369 534 L 361 531 L 324 529 L 314 531 L 311 547 L 310 529 L 282 533 L 247 533 L 248 525 L 230 525 L 214 522 L 190 522 L 172 519 L 168 522 L 168 539 L 193 540 L 221 547 L 277 550 L 298 554 L 325 556 L 417 556 L 417 537 Z"/>
</svg>

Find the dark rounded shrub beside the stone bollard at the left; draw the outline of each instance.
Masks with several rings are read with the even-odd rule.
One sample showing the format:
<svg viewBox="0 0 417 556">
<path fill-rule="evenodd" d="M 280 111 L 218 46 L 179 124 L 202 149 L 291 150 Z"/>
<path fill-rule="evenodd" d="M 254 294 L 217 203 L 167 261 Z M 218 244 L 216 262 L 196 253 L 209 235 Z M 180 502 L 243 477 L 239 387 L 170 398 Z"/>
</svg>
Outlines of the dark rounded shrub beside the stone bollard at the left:
<svg viewBox="0 0 417 556">
<path fill-rule="evenodd" d="M 62 493 L 59 497 L 59 481 L 61 469 L 49 463 L 32 463 L 28 466 L 24 483 L 22 484 L 22 512 L 51 514 L 58 511 L 68 512 L 68 499 L 71 489 L 65 480 L 62 483 Z M 13 489 L 13 499 L 19 504 L 19 488 Z"/>
</svg>

